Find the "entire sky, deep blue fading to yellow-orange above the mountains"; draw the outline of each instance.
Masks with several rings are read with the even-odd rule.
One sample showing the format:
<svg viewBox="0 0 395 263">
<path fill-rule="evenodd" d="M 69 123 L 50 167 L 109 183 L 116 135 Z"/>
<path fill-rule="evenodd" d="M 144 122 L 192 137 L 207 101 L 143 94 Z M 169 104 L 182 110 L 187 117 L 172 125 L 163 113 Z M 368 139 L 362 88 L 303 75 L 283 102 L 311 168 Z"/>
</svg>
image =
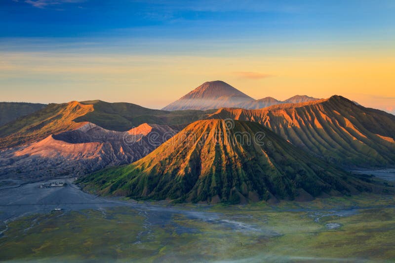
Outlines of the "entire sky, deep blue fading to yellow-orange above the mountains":
<svg viewBox="0 0 395 263">
<path fill-rule="evenodd" d="M 205 81 L 395 114 L 394 0 L 0 0 L 0 101 L 161 108 Z"/>
</svg>

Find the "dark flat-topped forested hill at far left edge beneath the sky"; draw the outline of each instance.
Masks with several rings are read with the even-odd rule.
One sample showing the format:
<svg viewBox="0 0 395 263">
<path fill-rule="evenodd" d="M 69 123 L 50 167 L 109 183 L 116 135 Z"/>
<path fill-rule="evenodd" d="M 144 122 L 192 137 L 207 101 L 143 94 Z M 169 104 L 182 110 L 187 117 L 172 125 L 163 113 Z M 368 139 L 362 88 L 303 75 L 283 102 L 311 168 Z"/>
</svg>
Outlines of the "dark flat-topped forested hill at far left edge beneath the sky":
<svg viewBox="0 0 395 263">
<path fill-rule="evenodd" d="M 27 102 L 0 102 L 0 126 L 19 117 L 29 115 L 45 107 L 46 104 Z"/>
</svg>

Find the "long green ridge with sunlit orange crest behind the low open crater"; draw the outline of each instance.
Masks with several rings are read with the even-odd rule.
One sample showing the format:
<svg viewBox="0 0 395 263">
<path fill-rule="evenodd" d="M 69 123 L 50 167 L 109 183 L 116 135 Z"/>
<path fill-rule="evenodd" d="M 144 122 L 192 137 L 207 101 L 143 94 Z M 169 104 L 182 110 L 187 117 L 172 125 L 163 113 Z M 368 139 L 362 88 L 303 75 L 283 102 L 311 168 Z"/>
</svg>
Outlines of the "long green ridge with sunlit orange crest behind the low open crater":
<svg viewBox="0 0 395 263">
<path fill-rule="evenodd" d="M 143 123 L 185 126 L 212 112 L 214 111 L 169 112 L 132 103 L 101 100 L 50 103 L 37 112 L 1 126 L 0 149 L 37 142 L 50 134 L 72 131 L 88 122 L 107 130 L 125 132 Z"/>
</svg>

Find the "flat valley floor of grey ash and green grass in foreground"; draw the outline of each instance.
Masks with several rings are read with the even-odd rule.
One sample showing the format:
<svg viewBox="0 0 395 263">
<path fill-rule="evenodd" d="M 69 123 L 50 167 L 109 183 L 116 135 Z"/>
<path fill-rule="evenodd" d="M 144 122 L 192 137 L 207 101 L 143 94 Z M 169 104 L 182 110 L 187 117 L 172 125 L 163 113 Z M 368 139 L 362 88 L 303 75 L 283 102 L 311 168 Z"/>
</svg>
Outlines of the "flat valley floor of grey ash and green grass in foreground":
<svg viewBox="0 0 395 263">
<path fill-rule="evenodd" d="M 1 261 L 395 259 L 394 196 L 363 194 L 276 206 L 172 205 L 96 197 L 81 192 L 73 180 L 58 188 L 40 189 L 44 182 L 1 187 Z"/>
</svg>

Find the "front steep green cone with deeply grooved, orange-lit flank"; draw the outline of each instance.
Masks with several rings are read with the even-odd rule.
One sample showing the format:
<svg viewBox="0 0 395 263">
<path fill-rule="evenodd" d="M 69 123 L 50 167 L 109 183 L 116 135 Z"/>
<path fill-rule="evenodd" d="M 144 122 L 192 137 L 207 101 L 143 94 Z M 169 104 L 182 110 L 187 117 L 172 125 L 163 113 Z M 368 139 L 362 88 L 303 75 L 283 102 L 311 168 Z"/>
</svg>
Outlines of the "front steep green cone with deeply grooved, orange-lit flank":
<svg viewBox="0 0 395 263">
<path fill-rule="evenodd" d="M 81 183 L 104 195 L 231 203 L 373 189 L 258 123 L 224 120 L 194 122 L 143 159 Z"/>
</svg>

